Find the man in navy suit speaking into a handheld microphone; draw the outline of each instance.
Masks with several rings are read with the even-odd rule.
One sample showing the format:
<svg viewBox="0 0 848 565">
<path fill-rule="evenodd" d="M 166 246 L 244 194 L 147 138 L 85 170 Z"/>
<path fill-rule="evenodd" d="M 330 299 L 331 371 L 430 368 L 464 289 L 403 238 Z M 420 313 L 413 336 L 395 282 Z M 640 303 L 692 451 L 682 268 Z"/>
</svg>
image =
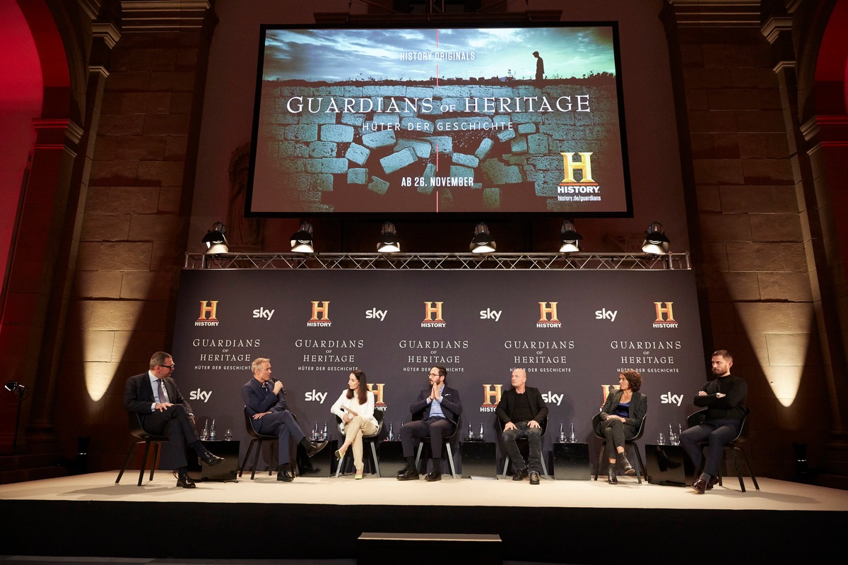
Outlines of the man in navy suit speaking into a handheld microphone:
<svg viewBox="0 0 848 565">
<path fill-rule="evenodd" d="M 315 443 L 307 440 L 304 432 L 288 411 L 286 390 L 282 381 L 271 378 L 271 359 L 256 357 L 250 364 L 254 378 L 242 385 L 244 408 L 253 418 L 254 429 L 262 435 L 276 435 L 277 462 L 280 464 L 276 479 L 285 482 L 294 480 L 294 471 L 289 460 L 290 441 L 304 446 L 306 455 L 312 457 L 326 447 L 326 440 Z"/>
</svg>

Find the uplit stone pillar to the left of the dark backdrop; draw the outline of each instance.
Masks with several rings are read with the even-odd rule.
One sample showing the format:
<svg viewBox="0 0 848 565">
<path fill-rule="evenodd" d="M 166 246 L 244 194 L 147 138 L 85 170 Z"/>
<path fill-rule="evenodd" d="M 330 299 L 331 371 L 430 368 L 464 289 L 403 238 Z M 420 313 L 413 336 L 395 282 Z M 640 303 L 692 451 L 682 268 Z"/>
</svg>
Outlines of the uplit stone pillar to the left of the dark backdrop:
<svg viewBox="0 0 848 565">
<path fill-rule="evenodd" d="M 170 345 L 217 22 L 205 0 L 120 4 L 56 407 L 58 420 L 76 423 L 63 432 L 64 446 L 92 436 L 92 468 L 120 463 L 126 378 Z"/>
</svg>

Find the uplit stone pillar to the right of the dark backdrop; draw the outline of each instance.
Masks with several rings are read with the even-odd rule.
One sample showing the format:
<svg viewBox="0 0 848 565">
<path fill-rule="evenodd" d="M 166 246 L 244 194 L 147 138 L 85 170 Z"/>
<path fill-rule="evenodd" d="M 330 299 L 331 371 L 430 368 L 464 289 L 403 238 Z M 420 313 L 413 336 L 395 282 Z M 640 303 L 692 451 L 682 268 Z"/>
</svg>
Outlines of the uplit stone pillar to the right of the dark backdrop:
<svg viewBox="0 0 848 565">
<path fill-rule="evenodd" d="M 827 429 L 827 377 L 802 198 L 809 177 L 795 158 L 797 120 L 788 119 L 786 89 L 796 86 L 785 65 L 775 67 L 761 10 L 743 0 L 669 0 L 662 18 L 686 130 L 684 190 L 698 217 L 690 239 L 700 240 L 707 349 L 733 352 L 733 372 L 748 382 L 755 468 L 787 478 L 791 444 Z M 810 447 L 821 461 L 823 441 Z"/>
</svg>

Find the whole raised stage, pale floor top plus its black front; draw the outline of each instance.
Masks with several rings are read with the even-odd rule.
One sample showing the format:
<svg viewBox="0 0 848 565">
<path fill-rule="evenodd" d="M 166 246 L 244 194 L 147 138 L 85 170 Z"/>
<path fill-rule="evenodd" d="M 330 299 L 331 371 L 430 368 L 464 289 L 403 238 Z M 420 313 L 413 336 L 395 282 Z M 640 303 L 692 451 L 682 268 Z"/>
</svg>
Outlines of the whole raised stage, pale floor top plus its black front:
<svg viewBox="0 0 848 565">
<path fill-rule="evenodd" d="M 714 550 L 697 548 L 716 544 L 724 563 L 825 558 L 833 536 L 848 528 L 848 491 L 767 478 L 758 478 L 761 490 L 746 478 L 743 493 L 731 478 L 699 495 L 629 477 L 618 485 L 543 479 L 535 486 L 510 477 L 427 483 L 347 475 L 282 483 L 257 474 L 192 490 L 177 489 L 169 472 L 141 487 L 137 471 L 120 485 L 116 477 L 0 485 L 3 553 L 351 559 L 363 532 L 457 533 L 499 535 L 503 558 L 512 562 L 620 563 L 620 551 L 609 548 L 635 543 L 652 561 L 694 565 L 715 562 Z M 152 526 L 169 531 L 155 554 L 126 541 Z M 256 536 L 265 543 L 246 541 Z M 475 562 L 473 555 L 452 557 L 440 562 Z"/>
</svg>

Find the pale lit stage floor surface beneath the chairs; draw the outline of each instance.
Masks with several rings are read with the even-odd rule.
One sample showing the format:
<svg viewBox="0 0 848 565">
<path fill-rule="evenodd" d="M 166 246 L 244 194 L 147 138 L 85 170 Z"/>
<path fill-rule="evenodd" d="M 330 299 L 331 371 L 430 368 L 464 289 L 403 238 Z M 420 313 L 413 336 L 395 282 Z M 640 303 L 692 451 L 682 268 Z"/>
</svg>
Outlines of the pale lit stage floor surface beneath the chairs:
<svg viewBox="0 0 848 565">
<path fill-rule="evenodd" d="M 527 479 L 449 479 L 438 483 L 420 480 L 401 482 L 394 478 L 352 475 L 298 477 L 282 483 L 275 476 L 245 474 L 237 483 L 198 482 L 196 489 L 177 489 L 170 472 L 157 471 L 153 481 L 137 486 L 138 471 L 126 471 L 120 485 L 114 484 L 117 471 L 81 474 L 58 479 L 0 485 L 0 499 L 20 501 L 131 501 L 131 502 L 216 502 L 256 504 L 331 504 L 356 506 L 441 506 L 445 500 L 454 507 L 502 507 L 505 500 L 514 507 L 551 508 L 667 508 L 702 510 L 848 510 L 848 490 L 802 485 L 757 477 L 761 490 L 745 478 L 747 492 L 739 490 L 739 480 L 725 479 L 704 495 L 689 487 L 639 485 L 636 479 L 619 477 L 618 485 L 607 485 L 602 477 L 594 480 L 546 480 L 530 485 Z M 147 479 L 147 476 L 145 476 Z M 438 492 L 438 496 L 432 496 Z"/>
</svg>

